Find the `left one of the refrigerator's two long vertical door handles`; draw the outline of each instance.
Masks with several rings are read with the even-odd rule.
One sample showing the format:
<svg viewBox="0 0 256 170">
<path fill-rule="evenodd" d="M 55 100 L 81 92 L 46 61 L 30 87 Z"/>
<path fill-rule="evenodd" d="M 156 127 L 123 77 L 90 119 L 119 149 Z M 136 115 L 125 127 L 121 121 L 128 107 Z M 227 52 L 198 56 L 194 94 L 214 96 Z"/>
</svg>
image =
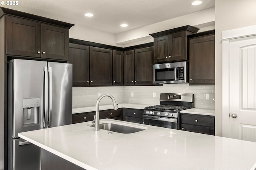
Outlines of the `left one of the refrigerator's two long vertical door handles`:
<svg viewBox="0 0 256 170">
<path fill-rule="evenodd" d="M 43 127 L 46 127 L 46 117 L 48 115 L 48 67 L 44 67 L 44 107 L 43 107 Z"/>
</svg>

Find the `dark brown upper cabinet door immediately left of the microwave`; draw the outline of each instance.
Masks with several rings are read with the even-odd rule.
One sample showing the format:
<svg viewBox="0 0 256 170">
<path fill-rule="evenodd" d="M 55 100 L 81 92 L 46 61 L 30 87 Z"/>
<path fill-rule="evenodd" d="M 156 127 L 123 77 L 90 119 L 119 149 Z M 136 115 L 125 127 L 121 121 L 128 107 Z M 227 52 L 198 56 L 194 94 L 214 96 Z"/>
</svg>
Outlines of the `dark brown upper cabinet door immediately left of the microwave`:
<svg viewBox="0 0 256 170">
<path fill-rule="evenodd" d="M 135 49 L 135 85 L 153 84 L 153 57 L 153 47 Z"/>
</svg>

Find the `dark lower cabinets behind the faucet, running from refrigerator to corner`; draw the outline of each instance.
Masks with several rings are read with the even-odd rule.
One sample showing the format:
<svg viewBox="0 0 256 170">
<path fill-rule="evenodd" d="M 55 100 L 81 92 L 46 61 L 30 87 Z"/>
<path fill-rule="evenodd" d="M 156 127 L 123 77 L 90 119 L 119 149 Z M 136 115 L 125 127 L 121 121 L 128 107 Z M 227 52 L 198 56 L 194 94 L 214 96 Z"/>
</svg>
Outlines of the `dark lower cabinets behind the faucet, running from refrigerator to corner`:
<svg viewBox="0 0 256 170">
<path fill-rule="evenodd" d="M 95 115 L 94 112 L 86 112 L 86 113 L 76 113 L 72 115 L 72 123 L 81 123 L 81 122 L 88 122 L 93 121 Z M 122 120 L 122 109 L 110 109 L 110 110 L 104 110 L 99 111 L 100 119 L 116 119 L 116 120 Z"/>
</svg>

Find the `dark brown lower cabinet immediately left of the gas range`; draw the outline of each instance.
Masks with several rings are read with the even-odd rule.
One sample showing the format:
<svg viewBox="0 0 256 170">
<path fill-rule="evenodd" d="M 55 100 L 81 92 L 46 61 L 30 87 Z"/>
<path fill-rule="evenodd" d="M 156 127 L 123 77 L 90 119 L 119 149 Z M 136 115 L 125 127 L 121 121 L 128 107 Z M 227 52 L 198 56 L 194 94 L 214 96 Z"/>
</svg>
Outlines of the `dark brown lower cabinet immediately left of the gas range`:
<svg viewBox="0 0 256 170">
<path fill-rule="evenodd" d="M 124 109 L 124 121 L 143 123 L 143 109 Z"/>
</svg>

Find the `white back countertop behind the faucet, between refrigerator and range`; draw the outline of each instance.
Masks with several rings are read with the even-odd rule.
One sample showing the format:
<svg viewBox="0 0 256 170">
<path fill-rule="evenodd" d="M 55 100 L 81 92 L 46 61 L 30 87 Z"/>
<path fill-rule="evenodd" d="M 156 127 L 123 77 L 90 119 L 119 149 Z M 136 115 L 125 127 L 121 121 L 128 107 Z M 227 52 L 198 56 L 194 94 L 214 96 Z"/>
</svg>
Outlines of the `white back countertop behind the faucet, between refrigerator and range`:
<svg viewBox="0 0 256 170">
<path fill-rule="evenodd" d="M 118 103 L 118 108 L 131 108 L 131 109 L 145 109 L 145 107 L 151 106 L 147 104 L 136 104 L 136 103 Z M 99 110 L 108 110 L 108 109 L 114 109 L 113 105 L 99 105 Z M 73 108 L 72 113 L 84 113 L 84 112 L 92 112 L 96 111 L 95 106 L 91 107 L 78 107 L 78 108 Z"/>
</svg>

